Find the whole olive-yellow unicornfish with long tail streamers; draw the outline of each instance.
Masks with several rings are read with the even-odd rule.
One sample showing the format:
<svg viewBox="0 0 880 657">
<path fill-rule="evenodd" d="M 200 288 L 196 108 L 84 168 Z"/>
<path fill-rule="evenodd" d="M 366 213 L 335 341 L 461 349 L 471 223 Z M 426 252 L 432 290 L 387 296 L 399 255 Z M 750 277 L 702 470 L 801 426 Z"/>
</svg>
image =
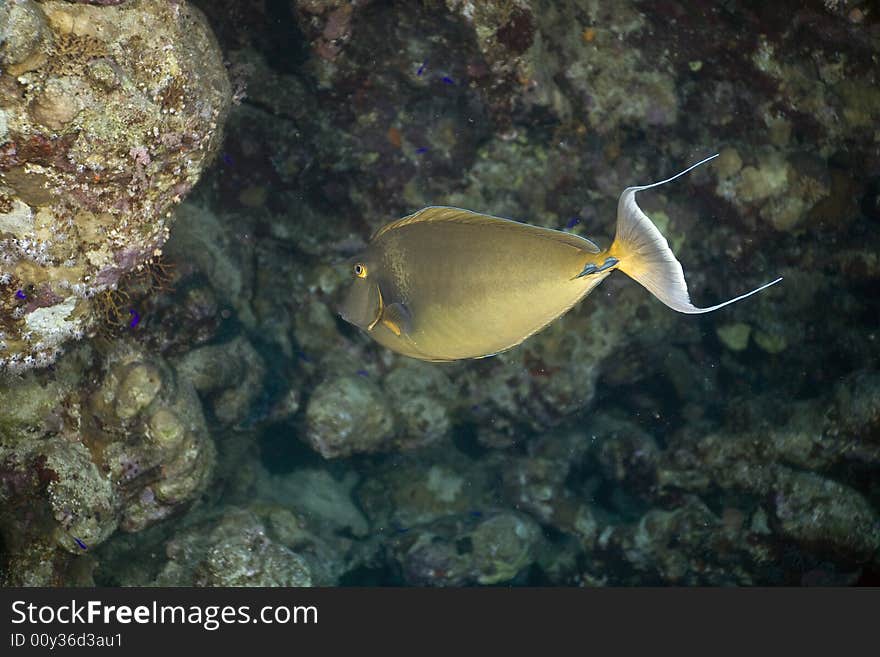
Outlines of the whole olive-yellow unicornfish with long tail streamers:
<svg viewBox="0 0 880 657">
<path fill-rule="evenodd" d="M 353 258 L 339 307 L 381 345 L 427 361 L 484 358 L 515 347 L 564 315 L 619 269 L 681 313 L 708 313 L 781 278 L 708 308 L 691 303 L 681 263 L 628 187 L 617 234 L 601 250 L 572 233 L 461 208 L 430 206 L 376 231 Z"/>
</svg>

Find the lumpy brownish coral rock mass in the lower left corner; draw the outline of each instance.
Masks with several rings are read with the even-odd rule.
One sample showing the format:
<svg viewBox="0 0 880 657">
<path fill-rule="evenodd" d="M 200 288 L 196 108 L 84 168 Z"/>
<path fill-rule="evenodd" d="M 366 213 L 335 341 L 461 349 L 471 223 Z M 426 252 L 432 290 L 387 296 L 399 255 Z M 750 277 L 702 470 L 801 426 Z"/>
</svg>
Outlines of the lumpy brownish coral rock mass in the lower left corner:
<svg viewBox="0 0 880 657">
<path fill-rule="evenodd" d="M 82 376 L 95 383 L 82 386 Z M 81 347 L 51 375 L 0 389 L 0 403 L 0 577 L 9 584 L 55 582 L 67 566 L 53 560 L 69 564 L 117 528 L 140 531 L 179 511 L 213 471 L 191 383 L 130 343 L 103 358 Z"/>
</svg>

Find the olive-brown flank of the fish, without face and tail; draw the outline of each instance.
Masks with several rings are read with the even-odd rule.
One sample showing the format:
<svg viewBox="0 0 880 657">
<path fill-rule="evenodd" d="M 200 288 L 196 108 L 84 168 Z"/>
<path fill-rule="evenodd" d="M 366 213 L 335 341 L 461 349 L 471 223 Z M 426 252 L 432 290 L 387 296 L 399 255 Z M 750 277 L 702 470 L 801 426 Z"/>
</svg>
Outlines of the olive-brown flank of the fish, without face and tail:
<svg viewBox="0 0 880 657">
<path fill-rule="evenodd" d="M 403 341 L 430 360 L 491 355 L 552 322 L 599 282 L 576 278 L 594 250 L 575 235 L 446 207 L 386 226 L 369 249 L 386 304 L 412 317 Z M 403 336 L 383 328 L 376 339 L 395 348 Z"/>
</svg>

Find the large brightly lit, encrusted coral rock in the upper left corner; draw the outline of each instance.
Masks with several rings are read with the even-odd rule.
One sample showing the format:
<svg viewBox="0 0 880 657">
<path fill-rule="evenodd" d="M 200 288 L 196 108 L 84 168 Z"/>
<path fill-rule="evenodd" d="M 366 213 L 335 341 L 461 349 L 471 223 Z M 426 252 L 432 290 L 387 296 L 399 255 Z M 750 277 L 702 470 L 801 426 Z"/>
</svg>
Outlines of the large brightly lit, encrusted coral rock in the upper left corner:
<svg viewBox="0 0 880 657">
<path fill-rule="evenodd" d="M 161 253 L 231 89 L 183 2 L 0 7 L 0 367 L 54 361 L 95 295 Z"/>
</svg>

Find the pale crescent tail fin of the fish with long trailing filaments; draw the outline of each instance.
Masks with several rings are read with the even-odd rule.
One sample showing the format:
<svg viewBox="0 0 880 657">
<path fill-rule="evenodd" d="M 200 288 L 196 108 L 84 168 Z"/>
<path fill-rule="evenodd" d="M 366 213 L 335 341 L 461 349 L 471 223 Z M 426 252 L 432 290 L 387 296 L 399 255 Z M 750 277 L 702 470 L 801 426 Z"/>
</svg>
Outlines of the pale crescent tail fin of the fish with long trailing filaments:
<svg viewBox="0 0 880 657">
<path fill-rule="evenodd" d="M 617 203 L 617 236 L 609 249 L 609 254 L 620 261 L 617 268 L 680 313 L 709 313 L 750 297 L 782 280 L 781 277 L 777 278 L 751 292 L 709 308 L 697 308 L 691 303 L 681 263 L 672 253 L 666 238 L 636 203 L 636 192 L 671 182 L 716 157 L 717 154 L 707 157 L 666 180 L 641 187 L 628 187 L 620 195 L 620 201 Z"/>
</svg>

